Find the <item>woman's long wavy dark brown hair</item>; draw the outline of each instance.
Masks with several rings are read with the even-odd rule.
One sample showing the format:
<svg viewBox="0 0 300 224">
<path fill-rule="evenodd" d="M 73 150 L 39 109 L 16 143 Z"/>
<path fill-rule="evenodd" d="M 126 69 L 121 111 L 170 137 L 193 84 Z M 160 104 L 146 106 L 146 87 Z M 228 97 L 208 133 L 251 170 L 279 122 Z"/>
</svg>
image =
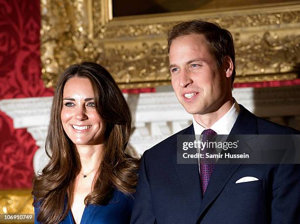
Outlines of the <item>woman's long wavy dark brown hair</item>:
<svg viewBox="0 0 300 224">
<path fill-rule="evenodd" d="M 90 80 L 96 110 L 107 123 L 103 156 L 93 191 L 86 196 L 85 204 L 108 203 L 115 188 L 130 195 L 137 183 L 139 160 L 125 152 L 131 113 L 121 90 L 100 65 L 88 62 L 73 65 L 60 77 L 53 97 L 46 139 L 46 153 L 50 161 L 42 174 L 33 179 L 33 205 L 40 207 L 37 219 L 44 224 L 59 223 L 67 216 L 73 202 L 75 178 L 81 170 L 77 150 L 64 132 L 60 119 L 64 86 L 73 77 Z"/>
</svg>

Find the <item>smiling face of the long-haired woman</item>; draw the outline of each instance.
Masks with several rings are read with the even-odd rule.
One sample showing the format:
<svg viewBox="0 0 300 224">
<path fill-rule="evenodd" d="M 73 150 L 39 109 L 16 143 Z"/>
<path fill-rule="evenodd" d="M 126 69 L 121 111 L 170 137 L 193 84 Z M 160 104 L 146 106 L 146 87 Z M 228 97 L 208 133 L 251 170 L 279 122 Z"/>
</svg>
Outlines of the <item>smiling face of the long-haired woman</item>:
<svg viewBox="0 0 300 224">
<path fill-rule="evenodd" d="M 76 145 L 99 145 L 104 141 L 106 123 L 96 111 L 94 98 L 89 79 L 74 77 L 66 82 L 60 118 Z"/>
</svg>

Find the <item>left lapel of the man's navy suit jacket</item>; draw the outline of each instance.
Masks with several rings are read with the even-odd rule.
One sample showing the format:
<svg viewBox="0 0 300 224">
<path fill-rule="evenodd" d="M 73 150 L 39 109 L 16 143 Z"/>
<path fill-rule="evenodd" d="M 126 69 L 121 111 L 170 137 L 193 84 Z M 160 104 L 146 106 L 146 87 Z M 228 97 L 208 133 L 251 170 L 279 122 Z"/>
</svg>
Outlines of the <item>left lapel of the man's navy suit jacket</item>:
<svg viewBox="0 0 300 224">
<path fill-rule="evenodd" d="M 185 129 L 181 134 L 194 134 L 193 125 Z M 177 149 L 177 142 L 175 142 L 174 148 L 175 150 Z M 191 217 L 198 217 L 202 200 L 199 166 L 198 164 L 177 164 L 176 152 L 172 154 L 172 163 L 180 182 L 184 198 L 192 213 Z M 192 222 L 195 222 L 195 220 Z"/>
</svg>

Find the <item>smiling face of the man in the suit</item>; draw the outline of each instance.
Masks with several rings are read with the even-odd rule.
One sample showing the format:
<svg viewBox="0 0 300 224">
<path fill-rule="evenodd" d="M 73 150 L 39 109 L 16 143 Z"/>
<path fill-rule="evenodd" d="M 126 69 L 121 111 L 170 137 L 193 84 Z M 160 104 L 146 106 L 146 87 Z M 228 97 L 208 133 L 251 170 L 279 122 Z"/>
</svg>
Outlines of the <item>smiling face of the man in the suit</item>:
<svg viewBox="0 0 300 224">
<path fill-rule="evenodd" d="M 169 60 L 173 89 L 188 113 L 215 112 L 225 103 L 225 67 L 217 67 L 203 35 L 190 34 L 173 40 Z"/>
</svg>

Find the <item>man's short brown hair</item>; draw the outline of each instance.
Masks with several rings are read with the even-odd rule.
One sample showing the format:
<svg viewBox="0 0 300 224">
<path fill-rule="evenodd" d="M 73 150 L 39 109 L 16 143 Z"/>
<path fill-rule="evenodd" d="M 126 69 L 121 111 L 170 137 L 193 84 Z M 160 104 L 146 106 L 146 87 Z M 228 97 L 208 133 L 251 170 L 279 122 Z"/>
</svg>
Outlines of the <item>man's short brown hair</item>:
<svg viewBox="0 0 300 224">
<path fill-rule="evenodd" d="M 231 58 L 233 62 L 231 85 L 233 85 L 235 78 L 235 53 L 231 33 L 228 30 L 221 28 L 221 26 L 215 22 L 201 20 L 181 22 L 168 32 L 168 51 L 170 51 L 170 46 L 174 39 L 189 34 L 204 35 L 208 49 L 210 50 L 210 53 L 214 55 L 216 64 L 219 68 L 222 66 L 223 58 L 226 55 Z"/>
</svg>

